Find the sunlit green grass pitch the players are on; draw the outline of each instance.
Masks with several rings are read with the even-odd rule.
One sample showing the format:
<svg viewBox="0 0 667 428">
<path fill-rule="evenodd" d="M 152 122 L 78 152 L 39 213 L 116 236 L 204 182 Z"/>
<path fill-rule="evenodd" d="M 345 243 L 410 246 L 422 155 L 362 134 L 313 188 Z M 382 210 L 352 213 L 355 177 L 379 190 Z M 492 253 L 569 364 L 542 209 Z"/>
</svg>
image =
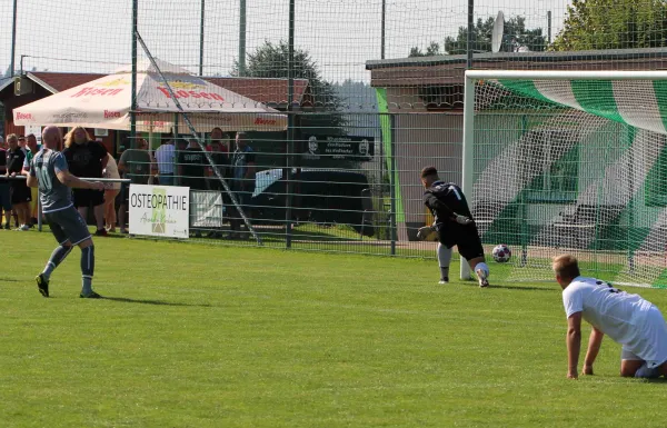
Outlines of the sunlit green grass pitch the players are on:
<svg viewBox="0 0 667 428">
<path fill-rule="evenodd" d="M 565 378 L 555 283 L 438 286 L 434 261 L 106 238 L 108 298 L 78 298 L 74 250 L 44 299 L 50 235 L 0 239 L 2 427 L 666 424 L 667 385 L 619 378 L 610 341 L 596 376 Z M 665 290 L 635 291 L 667 309 Z"/>
</svg>

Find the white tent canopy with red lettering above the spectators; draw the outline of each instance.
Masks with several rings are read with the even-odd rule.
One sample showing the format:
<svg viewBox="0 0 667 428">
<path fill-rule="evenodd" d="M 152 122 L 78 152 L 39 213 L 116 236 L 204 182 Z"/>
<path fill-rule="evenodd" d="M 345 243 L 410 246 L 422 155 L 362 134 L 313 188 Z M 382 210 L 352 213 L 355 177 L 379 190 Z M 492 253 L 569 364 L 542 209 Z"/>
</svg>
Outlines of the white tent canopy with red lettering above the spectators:
<svg viewBox="0 0 667 428">
<path fill-rule="evenodd" d="M 186 69 L 156 60 L 173 94 L 198 132 L 219 127 L 225 131 L 280 131 L 287 117 L 250 98 L 210 83 Z M 137 69 L 137 130 L 187 131 L 182 115 L 167 86 L 149 62 Z M 127 68 L 113 74 L 16 108 L 19 126 L 82 126 L 130 130 L 132 74 Z"/>
</svg>

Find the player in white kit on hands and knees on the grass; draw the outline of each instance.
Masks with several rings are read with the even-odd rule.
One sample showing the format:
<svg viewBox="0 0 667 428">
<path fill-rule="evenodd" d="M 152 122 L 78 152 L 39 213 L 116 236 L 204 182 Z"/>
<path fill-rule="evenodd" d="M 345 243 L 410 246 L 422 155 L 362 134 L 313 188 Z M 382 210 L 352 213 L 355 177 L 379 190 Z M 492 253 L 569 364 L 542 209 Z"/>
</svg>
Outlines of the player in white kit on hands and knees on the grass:
<svg viewBox="0 0 667 428">
<path fill-rule="evenodd" d="M 577 259 L 570 255 L 554 258 L 552 268 L 567 316 L 568 378 L 578 375 L 581 319 L 593 326 L 581 375 L 593 375 L 607 335 L 623 346 L 620 376 L 667 376 L 667 325 L 655 305 L 603 280 L 581 277 Z"/>
</svg>

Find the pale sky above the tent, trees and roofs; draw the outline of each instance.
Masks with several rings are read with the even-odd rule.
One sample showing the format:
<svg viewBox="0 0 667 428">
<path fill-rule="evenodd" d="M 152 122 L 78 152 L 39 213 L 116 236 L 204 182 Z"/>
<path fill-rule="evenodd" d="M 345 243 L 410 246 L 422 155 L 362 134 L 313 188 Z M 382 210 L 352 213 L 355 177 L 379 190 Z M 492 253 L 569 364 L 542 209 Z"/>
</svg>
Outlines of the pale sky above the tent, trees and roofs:
<svg viewBox="0 0 667 428">
<path fill-rule="evenodd" d="M 138 0 L 139 31 L 151 54 L 197 72 L 202 0 Z M 0 68 L 11 51 L 13 0 L 0 0 Z M 467 0 L 387 0 L 386 58 L 405 58 L 455 36 L 467 21 Z M 568 0 L 477 0 L 475 18 L 524 16 L 552 37 Z M 131 0 L 18 0 L 17 69 L 112 72 L 131 61 Z M 239 0 L 205 0 L 203 74 L 228 76 L 238 58 Z M 247 0 L 247 52 L 287 40 L 288 0 Z M 369 81 L 368 60 L 380 59 L 381 0 L 296 0 L 295 43 L 334 82 Z M 139 48 L 141 51 L 141 48 Z M 143 53 L 141 53 L 143 56 Z"/>
</svg>

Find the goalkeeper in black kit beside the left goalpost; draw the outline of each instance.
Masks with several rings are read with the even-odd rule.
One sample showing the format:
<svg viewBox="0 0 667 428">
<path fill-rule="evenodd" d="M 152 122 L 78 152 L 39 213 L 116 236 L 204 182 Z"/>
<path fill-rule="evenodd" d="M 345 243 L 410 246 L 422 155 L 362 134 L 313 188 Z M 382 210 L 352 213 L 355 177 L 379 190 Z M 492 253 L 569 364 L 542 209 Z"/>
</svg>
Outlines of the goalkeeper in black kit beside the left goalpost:
<svg viewBox="0 0 667 428">
<path fill-rule="evenodd" d="M 477 232 L 477 226 L 468 208 L 461 189 L 451 182 L 441 181 L 434 167 L 421 170 L 424 205 L 434 215 L 432 226 L 419 228 L 417 237 L 426 239 L 431 232 L 438 233 L 438 263 L 440 265 L 440 283 L 449 282 L 449 262 L 451 247 L 457 246 L 470 269 L 477 275 L 479 287 L 488 287 L 489 267 L 485 262 L 484 248 Z"/>
</svg>

